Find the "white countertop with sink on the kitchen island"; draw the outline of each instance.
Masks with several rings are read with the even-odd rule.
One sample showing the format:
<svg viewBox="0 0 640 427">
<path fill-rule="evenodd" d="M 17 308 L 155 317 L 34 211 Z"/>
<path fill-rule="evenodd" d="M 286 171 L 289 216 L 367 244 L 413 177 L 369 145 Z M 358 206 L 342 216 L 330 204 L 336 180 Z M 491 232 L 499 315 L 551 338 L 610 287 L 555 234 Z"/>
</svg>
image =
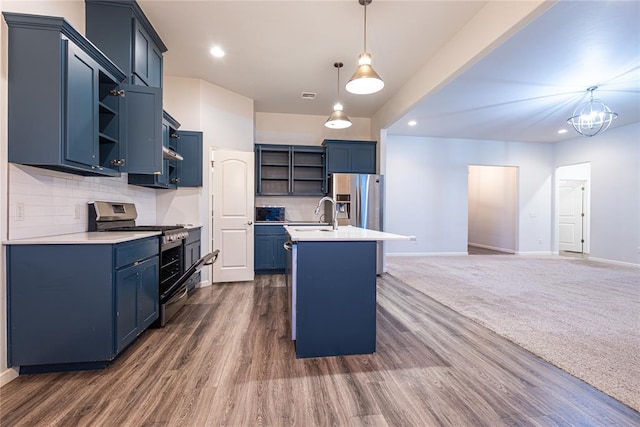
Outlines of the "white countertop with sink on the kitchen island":
<svg viewBox="0 0 640 427">
<path fill-rule="evenodd" d="M 353 227 L 351 225 L 338 227 L 333 230 L 331 226 L 296 226 L 285 225 L 284 229 L 294 242 L 335 242 L 335 241 L 361 241 L 361 240 L 415 240 L 415 236 L 403 236 L 401 234 L 386 233 L 384 231 L 369 230 Z"/>
</svg>

